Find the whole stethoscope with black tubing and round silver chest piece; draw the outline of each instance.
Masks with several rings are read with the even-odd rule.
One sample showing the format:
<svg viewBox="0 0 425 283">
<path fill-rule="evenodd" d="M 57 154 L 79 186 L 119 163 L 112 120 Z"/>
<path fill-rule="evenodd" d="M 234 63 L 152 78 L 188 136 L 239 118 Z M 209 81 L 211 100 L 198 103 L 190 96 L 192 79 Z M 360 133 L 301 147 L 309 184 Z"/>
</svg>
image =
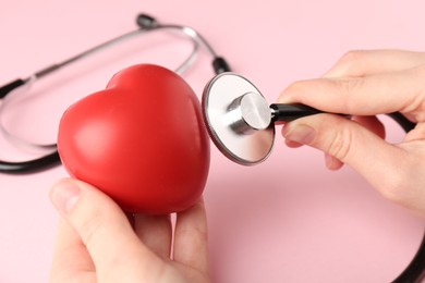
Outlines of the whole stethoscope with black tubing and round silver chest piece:
<svg viewBox="0 0 425 283">
<path fill-rule="evenodd" d="M 88 49 L 60 63 L 45 67 L 27 78 L 15 79 L 0 87 L 0 99 L 15 91 L 27 90 L 36 81 L 48 76 L 71 63 L 82 60 L 125 39 L 155 30 L 180 32 L 193 42 L 192 52 L 174 71 L 182 74 L 195 60 L 199 46 L 203 46 L 212 57 L 212 67 L 216 76 L 209 81 L 202 97 L 202 110 L 206 128 L 217 148 L 230 160 L 243 164 L 258 164 L 269 157 L 275 140 L 275 122 L 291 121 L 301 116 L 321 113 L 320 110 L 304 104 L 269 104 L 262 93 L 245 77 L 230 72 L 226 60 L 219 57 L 211 46 L 195 29 L 183 25 L 160 24 L 154 17 L 141 14 L 137 16 L 138 28 L 109 41 Z M 7 106 L 4 101 L 1 108 Z M 415 124 L 401 113 L 389 113 L 401 127 L 409 132 Z M 0 127 L 11 140 L 27 144 L 32 147 L 50 149 L 51 153 L 40 158 L 23 161 L 0 161 L 0 172 L 31 173 L 42 171 L 60 164 L 56 145 L 35 145 L 22 140 Z M 394 283 L 420 282 L 425 271 L 425 237 L 413 260 L 406 269 L 393 281 Z"/>
</svg>

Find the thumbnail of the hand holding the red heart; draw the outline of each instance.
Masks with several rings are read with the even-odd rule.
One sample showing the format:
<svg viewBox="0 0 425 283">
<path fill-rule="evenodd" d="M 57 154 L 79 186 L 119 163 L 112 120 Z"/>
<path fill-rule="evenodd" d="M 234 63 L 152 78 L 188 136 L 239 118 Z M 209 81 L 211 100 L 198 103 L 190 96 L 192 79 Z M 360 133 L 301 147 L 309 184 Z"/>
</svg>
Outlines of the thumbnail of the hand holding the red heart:
<svg viewBox="0 0 425 283">
<path fill-rule="evenodd" d="M 61 182 L 52 188 L 50 199 L 59 212 L 66 214 L 75 206 L 80 194 L 81 189 L 75 183 Z"/>
</svg>

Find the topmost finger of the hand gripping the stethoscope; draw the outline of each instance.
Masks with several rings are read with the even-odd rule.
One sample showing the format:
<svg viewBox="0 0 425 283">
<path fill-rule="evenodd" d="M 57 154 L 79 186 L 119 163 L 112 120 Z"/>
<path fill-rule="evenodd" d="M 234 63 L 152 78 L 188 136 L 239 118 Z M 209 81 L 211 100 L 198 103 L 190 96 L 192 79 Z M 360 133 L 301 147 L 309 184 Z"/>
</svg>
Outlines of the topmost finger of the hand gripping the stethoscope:
<svg viewBox="0 0 425 283">
<path fill-rule="evenodd" d="M 366 76 L 398 72 L 422 64 L 425 64 L 424 52 L 354 50 L 347 52 L 324 76 Z"/>
</svg>

